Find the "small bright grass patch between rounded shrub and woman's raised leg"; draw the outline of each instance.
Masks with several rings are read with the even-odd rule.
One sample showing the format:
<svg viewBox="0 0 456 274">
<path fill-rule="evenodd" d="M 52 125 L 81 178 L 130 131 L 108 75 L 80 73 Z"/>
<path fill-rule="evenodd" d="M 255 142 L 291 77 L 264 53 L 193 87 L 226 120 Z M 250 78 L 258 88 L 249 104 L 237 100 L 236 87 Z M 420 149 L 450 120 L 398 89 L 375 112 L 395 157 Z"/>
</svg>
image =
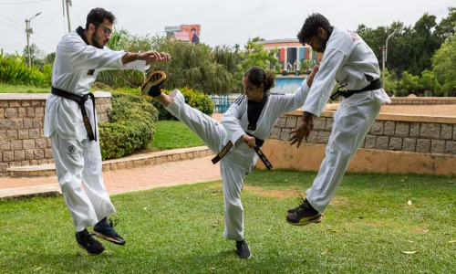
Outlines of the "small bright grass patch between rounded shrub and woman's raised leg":
<svg viewBox="0 0 456 274">
<path fill-rule="evenodd" d="M 156 150 L 204 145 L 204 142 L 181 121 L 157 121 L 151 147 Z"/>
</svg>

